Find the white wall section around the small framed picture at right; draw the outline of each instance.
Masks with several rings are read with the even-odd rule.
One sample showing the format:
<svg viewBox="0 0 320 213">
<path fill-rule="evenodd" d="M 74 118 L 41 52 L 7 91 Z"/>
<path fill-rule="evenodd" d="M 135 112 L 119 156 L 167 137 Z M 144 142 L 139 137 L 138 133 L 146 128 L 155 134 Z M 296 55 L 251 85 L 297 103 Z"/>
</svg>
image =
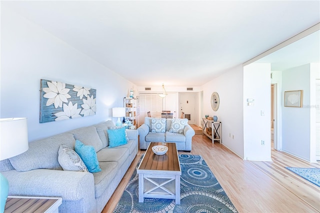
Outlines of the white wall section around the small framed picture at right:
<svg viewBox="0 0 320 213">
<path fill-rule="evenodd" d="M 310 159 L 310 64 L 282 71 L 282 93 L 303 90 L 302 107 L 282 104 L 282 150 Z M 283 99 L 282 99 L 283 100 Z"/>
</svg>

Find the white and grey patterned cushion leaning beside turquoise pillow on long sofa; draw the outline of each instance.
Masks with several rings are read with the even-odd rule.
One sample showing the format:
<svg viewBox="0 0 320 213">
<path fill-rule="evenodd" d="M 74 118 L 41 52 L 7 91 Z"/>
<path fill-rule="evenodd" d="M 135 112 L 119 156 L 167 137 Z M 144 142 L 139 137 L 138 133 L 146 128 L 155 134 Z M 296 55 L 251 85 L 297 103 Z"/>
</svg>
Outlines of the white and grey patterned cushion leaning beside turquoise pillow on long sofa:
<svg viewBox="0 0 320 213">
<path fill-rule="evenodd" d="M 66 171 L 88 171 L 80 156 L 69 146 L 61 144 L 58 151 L 58 161 Z"/>
</svg>

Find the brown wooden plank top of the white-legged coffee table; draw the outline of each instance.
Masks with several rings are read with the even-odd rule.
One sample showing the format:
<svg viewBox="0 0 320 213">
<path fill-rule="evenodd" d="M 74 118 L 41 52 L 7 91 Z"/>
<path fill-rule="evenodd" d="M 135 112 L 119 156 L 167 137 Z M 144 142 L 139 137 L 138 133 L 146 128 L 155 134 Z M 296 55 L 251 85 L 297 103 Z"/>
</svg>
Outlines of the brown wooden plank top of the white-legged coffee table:
<svg viewBox="0 0 320 213">
<path fill-rule="evenodd" d="M 156 155 L 152 151 L 152 146 L 154 145 L 165 145 L 168 150 L 163 155 Z M 137 169 L 139 170 L 158 170 L 158 171 L 179 171 L 181 172 L 180 162 L 178 153 L 175 147 L 175 143 L 165 143 L 162 142 L 150 142 L 142 161 Z"/>
</svg>

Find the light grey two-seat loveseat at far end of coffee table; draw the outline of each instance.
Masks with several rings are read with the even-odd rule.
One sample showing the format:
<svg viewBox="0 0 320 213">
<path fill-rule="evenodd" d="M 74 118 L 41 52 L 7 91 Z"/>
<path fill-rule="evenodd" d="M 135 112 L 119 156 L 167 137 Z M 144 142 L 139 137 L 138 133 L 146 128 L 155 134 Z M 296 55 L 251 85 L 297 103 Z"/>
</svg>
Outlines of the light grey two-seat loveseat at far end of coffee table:
<svg viewBox="0 0 320 213">
<path fill-rule="evenodd" d="M 187 123 L 187 119 L 180 119 L 184 121 L 184 128 L 179 132 L 171 132 L 171 122 L 174 118 L 162 118 L 165 119 L 164 123 L 160 123 L 161 132 L 152 132 L 152 119 L 159 120 L 161 118 L 145 117 L 144 123 L 140 125 L 137 130 L 139 131 L 139 147 L 140 149 L 146 149 L 150 142 L 175 142 L 177 150 L 191 151 L 192 136 L 194 135 L 193 128 Z M 158 125 L 154 121 L 153 127 Z M 160 127 L 160 128 L 161 128 Z"/>
</svg>

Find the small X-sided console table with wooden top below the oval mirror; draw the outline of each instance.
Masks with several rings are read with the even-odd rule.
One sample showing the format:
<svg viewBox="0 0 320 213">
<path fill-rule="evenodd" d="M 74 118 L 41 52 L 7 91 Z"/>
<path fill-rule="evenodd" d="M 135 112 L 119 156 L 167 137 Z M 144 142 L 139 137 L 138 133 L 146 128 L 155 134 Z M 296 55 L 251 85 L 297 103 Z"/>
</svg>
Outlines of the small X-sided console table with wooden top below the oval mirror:
<svg viewBox="0 0 320 213">
<path fill-rule="evenodd" d="M 212 139 L 212 143 L 214 143 L 214 140 L 221 143 L 221 128 L 221 121 L 213 121 L 204 117 L 202 118 L 202 135 L 205 134 Z"/>
</svg>

